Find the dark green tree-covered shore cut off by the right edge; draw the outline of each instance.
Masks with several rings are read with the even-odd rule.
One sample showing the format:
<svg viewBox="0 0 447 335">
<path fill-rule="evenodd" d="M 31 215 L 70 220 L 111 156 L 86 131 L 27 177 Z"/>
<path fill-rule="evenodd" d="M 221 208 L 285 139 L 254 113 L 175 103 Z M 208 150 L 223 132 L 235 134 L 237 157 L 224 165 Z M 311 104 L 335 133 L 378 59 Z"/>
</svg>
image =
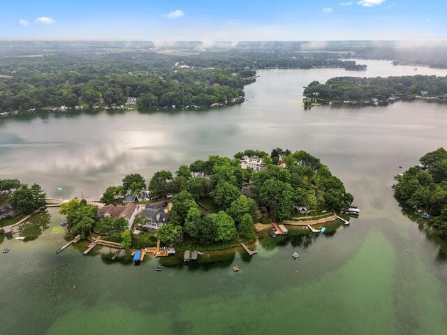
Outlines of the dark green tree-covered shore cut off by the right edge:
<svg viewBox="0 0 447 335">
<path fill-rule="evenodd" d="M 447 239 L 447 151 L 439 148 L 420 158 L 413 166 L 395 177 L 397 200 L 416 209 Z"/>
</svg>

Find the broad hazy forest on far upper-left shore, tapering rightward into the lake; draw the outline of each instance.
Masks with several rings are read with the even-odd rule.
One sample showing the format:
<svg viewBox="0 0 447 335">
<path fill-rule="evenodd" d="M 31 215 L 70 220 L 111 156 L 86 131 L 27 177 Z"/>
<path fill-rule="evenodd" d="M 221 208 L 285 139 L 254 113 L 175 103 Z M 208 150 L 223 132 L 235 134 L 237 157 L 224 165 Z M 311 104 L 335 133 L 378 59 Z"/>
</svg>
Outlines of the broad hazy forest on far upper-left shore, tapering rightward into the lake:
<svg viewBox="0 0 447 335">
<path fill-rule="evenodd" d="M 113 43 L 80 43 L 78 48 L 63 44 L 62 51 L 58 43 L 34 48 L 13 42 L 1 45 L 5 54 L 0 57 L 0 112 L 50 105 L 122 105 L 127 97 L 137 98 L 138 107 L 226 105 L 243 101 L 244 85 L 256 80 L 259 68 L 365 69 L 328 52 L 154 52 L 150 44 L 144 51 L 107 48 Z"/>
</svg>

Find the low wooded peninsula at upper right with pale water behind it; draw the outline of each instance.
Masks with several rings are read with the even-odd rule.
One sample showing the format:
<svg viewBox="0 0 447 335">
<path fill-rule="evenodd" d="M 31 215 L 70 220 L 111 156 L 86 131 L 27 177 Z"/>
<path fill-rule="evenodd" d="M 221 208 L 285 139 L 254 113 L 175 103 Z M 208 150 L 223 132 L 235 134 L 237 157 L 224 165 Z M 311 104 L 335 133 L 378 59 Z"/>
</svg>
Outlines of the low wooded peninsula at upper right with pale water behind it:
<svg viewBox="0 0 447 335">
<path fill-rule="evenodd" d="M 305 89 L 307 98 L 323 101 L 370 103 L 390 98 L 439 98 L 445 101 L 447 77 L 414 75 L 402 77 L 335 77 L 325 84 L 311 82 Z"/>
</svg>

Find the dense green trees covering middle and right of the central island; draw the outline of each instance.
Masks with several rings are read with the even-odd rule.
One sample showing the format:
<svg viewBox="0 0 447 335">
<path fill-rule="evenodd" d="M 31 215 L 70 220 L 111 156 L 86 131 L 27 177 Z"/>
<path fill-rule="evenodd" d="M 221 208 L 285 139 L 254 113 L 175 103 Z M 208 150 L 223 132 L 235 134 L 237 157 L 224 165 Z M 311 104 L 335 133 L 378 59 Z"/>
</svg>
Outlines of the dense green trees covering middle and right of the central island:
<svg viewBox="0 0 447 335">
<path fill-rule="evenodd" d="M 240 158 L 254 155 L 263 159 L 263 170 L 241 168 Z M 294 204 L 343 209 L 353 201 L 342 181 L 318 158 L 280 148 L 270 155 L 249 149 L 233 159 L 210 156 L 207 161 L 181 165 L 175 174 L 156 172 L 149 182 L 140 174 L 129 174 L 122 185 L 107 188 L 101 200 L 115 204 L 117 198 L 139 195 L 143 189 L 154 197 L 173 195 L 168 224 L 156 231 L 157 237 L 171 246 L 184 241 L 195 246 L 237 244 L 238 238 L 252 241 L 254 223 L 287 220 L 294 215 Z M 266 209 L 269 218 L 259 216 L 260 208 Z M 84 232 L 91 228 L 79 227 Z"/>
</svg>

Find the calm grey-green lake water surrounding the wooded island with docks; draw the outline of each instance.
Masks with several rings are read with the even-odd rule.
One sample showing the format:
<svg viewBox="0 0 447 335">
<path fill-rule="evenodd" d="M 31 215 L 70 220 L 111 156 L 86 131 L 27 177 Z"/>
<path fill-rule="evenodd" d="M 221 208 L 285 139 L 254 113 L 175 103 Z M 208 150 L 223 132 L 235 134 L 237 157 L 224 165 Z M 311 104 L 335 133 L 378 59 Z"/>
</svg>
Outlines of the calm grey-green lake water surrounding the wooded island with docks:
<svg viewBox="0 0 447 335">
<path fill-rule="evenodd" d="M 447 245 L 393 198 L 393 176 L 447 146 L 447 105 L 304 110 L 302 91 L 335 76 L 447 75 L 361 61 L 341 68 L 260 70 L 241 105 L 206 111 L 37 113 L 0 121 L 0 178 L 37 182 L 47 195 L 98 198 L 125 174 L 247 148 L 306 150 L 355 197 L 361 215 L 329 234 L 293 230 L 182 265 L 140 267 L 65 244 L 57 209 L 36 216 L 25 241 L 0 236 L 3 334 L 446 334 Z M 61 191 L 57 188 L 62 188 Z M 293 260 L 291 254 L 300 258 Z M 165 269 L 154 271 L 161 262 Z M 179 264 L 180 263 L 180 264 Z M 238 266 L 240 271 L 231 269 Z"/>
</svg>

